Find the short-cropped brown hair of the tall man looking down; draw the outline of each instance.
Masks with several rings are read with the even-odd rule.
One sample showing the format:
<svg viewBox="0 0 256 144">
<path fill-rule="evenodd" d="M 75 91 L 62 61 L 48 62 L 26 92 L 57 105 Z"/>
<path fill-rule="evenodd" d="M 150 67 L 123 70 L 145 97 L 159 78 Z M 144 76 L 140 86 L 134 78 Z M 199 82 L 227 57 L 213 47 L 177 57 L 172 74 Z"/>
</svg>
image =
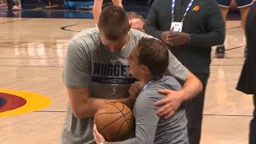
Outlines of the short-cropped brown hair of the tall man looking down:
<svg viewBox="0 0 256 144">
<path fill-rule="evenodd" d="M 126 11 L 120 6 L 106 6 L 99 16 L 98 29 L 108 40 L 122 38 L 130 30 Z"/>
</svg>

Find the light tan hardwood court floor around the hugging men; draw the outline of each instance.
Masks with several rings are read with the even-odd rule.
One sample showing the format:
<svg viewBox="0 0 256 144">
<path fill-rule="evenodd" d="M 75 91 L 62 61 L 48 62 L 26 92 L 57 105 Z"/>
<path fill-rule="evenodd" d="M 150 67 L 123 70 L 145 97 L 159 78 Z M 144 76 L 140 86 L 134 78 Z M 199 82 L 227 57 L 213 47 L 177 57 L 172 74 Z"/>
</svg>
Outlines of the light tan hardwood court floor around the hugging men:
<svg viewBox="0 0 256 144">
<path fill-rule="evenodd" d="M 29 114 L 0 118 L 1 144 L 56 144 L 66 114 L 62 83 L 66 46 L 90 19 L 0 18 L 0 88 L 51 98 L 50 106 Z M 62 29 L 63 30 L 62 30 Z M 246 144 L 253 105 L 235 90 L 245 38 L 238 21 L 228 21 L 226 58 L 214 58 L 206 90 L 202 144 Z"/>
</svg>

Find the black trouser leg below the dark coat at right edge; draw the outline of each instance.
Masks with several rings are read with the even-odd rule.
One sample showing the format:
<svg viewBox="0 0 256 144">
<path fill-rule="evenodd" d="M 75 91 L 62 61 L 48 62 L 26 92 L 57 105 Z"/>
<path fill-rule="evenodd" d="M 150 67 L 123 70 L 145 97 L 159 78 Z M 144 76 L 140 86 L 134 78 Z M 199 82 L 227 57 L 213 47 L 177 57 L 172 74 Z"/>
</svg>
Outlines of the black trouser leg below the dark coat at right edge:
<svg viewBox="0 0 256 144">
<path fill-rule="evenodd" d="M 256 94 L 254 94 L 254 117 L 250 121 L 249 143 L 256 143 Z"/>
</svg>

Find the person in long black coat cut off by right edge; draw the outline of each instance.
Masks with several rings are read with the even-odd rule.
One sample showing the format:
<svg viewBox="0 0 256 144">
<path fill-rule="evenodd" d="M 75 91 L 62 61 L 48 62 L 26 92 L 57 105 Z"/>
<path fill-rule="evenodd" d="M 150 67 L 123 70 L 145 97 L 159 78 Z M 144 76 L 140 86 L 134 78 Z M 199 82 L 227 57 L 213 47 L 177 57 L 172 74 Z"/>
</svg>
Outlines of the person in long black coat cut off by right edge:
<svg viewBox="0 0 256 144">
<path fill-rule="evenodd" d="M 256 143 L 256 3 L 251 7 L 246 20 L 246 44 L 248 54 L 238 81 L 237 90 L 254 94 L 254 114 L 250 121 L 249 143 Z"/>
</svg>

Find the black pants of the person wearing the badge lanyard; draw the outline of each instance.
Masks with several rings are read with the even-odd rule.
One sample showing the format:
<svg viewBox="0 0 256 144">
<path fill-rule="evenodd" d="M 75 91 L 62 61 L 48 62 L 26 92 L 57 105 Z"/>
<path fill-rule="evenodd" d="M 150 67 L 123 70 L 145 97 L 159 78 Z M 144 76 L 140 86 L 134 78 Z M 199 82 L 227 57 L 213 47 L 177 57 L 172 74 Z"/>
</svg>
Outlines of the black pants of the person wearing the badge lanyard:
<svg viewBox="0 0 256 144">
<path fill-rule="evenodd" d="M 202 82 L 202 92 L 191 101 L 186 102 L 186 117 L 188 119 L 188 137 L 190 144 L 199 144 L 202 129 L 202 110 L 209 74 L 194 74 Z M 255 144 L 255 143 L 254 143 Z"/>
</svg>

